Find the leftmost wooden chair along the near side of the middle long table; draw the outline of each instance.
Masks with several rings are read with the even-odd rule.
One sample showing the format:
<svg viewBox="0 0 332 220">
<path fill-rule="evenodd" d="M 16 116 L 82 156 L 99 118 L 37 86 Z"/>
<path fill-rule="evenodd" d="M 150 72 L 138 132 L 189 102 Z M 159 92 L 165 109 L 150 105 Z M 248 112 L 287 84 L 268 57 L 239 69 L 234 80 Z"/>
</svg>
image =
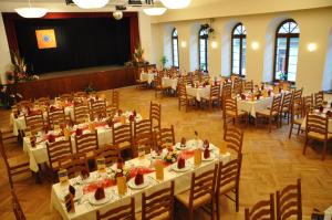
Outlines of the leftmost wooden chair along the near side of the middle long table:
<svg viewBox="0 0 332 220">
<path fill-rule="evenodd" d="M 49 168 L 53 182 L 55 182 L 54 176 L 60 170 L 60 159 L 69 157 L 73 154 L 71 140 L 60 140 L 55 143 L 46 143 Z"/>
</svg>

